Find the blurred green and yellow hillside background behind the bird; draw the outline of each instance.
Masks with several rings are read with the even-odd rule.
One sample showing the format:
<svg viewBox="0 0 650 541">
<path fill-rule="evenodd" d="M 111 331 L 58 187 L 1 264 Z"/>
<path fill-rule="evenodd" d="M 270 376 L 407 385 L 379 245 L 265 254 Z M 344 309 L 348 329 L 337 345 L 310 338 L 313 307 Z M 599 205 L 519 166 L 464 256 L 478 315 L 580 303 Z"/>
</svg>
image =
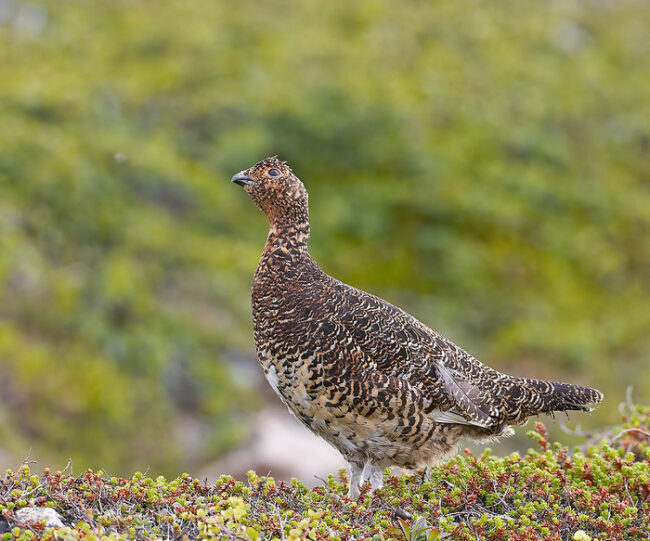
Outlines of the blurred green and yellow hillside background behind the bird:
<svg viewBox="0 0 650 541">
<path fill-rule="evenodd" d="M 330 274 L 604 390 L 583 426 L 647 403 L 649 36 L 645 1 L 0 0 L 0 451 L 245 440 L 266 219 L 229 179 L 272 154 Z"/>
</svg>

